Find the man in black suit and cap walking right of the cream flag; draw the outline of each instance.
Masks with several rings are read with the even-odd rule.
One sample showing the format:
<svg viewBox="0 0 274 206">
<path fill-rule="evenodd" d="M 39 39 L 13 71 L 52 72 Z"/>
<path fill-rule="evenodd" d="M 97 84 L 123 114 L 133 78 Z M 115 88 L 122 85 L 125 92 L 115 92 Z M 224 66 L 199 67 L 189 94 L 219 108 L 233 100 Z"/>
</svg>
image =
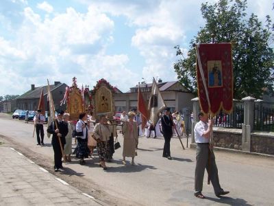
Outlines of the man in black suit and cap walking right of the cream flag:
<svg viewBox="0 0 274 206">
<path fill-rule="evenodd" d="M 171 109 L 166 108 L 164 115 L 161 117 L 162 134 L 164 135 L 164 151 L 163 157 L 171 158 L 171 137 L 173 135 L 173 119 L 171 117 Z"/>
</svg>

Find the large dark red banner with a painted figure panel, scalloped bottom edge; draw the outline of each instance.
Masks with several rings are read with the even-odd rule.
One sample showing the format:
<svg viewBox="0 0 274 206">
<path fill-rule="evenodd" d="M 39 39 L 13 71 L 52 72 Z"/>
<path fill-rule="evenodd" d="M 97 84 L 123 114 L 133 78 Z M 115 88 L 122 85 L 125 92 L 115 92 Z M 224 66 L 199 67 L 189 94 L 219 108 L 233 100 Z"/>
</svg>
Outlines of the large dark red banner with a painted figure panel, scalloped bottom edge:
<svg viewBox="0 0 274 206">
<path fill-rule="evenodd" d="M 201 109 L 214 116 L 233 108 L 232 49 L 230 43 L 197 45 L 197 85 Z"/>
</svg>

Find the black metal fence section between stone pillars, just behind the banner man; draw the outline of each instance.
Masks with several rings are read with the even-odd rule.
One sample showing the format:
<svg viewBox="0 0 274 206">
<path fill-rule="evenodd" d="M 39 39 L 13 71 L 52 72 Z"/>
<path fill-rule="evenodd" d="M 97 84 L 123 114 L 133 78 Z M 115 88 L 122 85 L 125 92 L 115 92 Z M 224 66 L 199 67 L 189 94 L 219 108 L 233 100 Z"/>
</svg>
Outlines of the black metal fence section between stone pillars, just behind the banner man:
<svg viewBox="0 0 274 206">
<path fill-rule="evenodd" d="M 244 122 L 244 105 L 241 101 L 234 101 L 232 113 L 227 114 L 220 111 L 214 118 L 215 127 L 223 128 L 242 128 Z"/>
</svg>

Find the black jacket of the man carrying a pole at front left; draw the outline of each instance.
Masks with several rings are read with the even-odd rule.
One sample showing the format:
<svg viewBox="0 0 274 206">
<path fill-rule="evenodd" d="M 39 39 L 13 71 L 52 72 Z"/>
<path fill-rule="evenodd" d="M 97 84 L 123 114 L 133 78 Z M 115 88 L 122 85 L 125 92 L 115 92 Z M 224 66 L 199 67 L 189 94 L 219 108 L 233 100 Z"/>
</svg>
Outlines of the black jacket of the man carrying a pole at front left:
<svg viewBox="0 0 274 206">
<path fill-rule="evenodd" d="M 58 127 L 56 127 L 55 123 L 57 124 Z M 47 132 L 52 134 L 51 144 L 55 144 L 55 143 L 59 144 L 57 133 L 55 133 L 56 128 L 59 129 L 59 133 L 62 135 L 62 137 L 60 137 L 60 139 L 61 139 L 62 145 L 64 146 L 64 144 L 66 144 L 66 138 L 65 137 L 69 133 L 68 124 L 64 121 L 62 121 L 59 124 L 59 122 L 57 120 L 55 122 L 51 123 L 51 125 L 47 128 Z"/>
</svg>

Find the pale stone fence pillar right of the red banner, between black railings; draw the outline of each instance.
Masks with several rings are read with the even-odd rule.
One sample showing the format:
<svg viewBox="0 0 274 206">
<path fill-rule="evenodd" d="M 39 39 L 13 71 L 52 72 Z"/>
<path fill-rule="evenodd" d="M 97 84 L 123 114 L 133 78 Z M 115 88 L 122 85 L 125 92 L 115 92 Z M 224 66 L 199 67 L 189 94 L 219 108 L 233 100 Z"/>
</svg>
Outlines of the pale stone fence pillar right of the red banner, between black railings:
<svg viewBox="0 0 274 206">
<path fill-rule="evenodd" d="M 242 98 L 244 101 L 244 124 L 242 124 L 242 151 L 250 152 L 251 131 L 254 126 L 254 101 L 252 97 Z"/>
</svg>

